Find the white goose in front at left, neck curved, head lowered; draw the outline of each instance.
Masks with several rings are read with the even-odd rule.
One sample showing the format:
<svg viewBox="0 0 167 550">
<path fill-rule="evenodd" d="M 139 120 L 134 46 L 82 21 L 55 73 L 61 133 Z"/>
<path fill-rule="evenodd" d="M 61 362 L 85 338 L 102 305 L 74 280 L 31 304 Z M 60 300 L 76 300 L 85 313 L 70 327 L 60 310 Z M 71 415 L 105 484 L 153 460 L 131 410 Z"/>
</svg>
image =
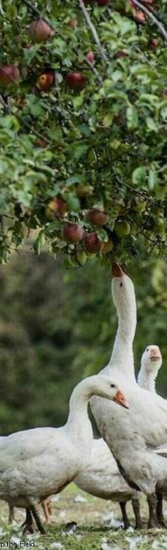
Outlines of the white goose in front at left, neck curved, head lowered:
<svg viewBox="0 0 167 550">
<path fill-rule="evenodd" d="M 37 503 L 62 491 L 88 463 L 93 431 L 87 409 L 94 394 L 128 406 L 115 378 L 91 376 L 74 388 L 64 426 L 25 430 L 0 441 L 0 498 L 26 508 L 26 532 L 33 532 L 34 517 L 45 533 Z"/>
</svg>

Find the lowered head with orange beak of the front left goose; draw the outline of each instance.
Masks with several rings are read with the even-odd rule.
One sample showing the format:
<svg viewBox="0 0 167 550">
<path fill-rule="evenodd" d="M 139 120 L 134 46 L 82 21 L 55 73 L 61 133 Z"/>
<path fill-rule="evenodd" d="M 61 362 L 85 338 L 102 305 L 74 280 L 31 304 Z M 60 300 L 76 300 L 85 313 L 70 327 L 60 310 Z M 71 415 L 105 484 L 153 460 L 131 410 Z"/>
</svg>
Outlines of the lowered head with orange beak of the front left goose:
<svg viewBox="0 0 167 550">
<path fill-rule="evenodd" d="M 117 385 L 117 382 L 115 382 L 115 380 L 104 375 L 91 378 L 94 378 L 92 387 L 94 395 L 99 395 L 100 397 L 111 399 L 112 401 L 115 401 L 115 403 L 124 406 L 125 409 L 129 409 L 127 399 L 125 398 L 124 393 L 120 390 L 120 387 Z"/>
</svg>

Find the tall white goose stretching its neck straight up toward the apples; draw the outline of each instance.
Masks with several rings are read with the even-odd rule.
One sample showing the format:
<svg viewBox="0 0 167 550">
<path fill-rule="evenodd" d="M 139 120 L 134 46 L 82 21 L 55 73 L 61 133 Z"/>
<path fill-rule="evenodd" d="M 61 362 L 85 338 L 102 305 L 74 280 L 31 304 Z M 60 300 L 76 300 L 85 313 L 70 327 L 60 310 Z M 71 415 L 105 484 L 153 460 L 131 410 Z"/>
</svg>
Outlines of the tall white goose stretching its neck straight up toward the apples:
<svg viewBox="0 0 167 550">
<path fill-rule="evenodd" d="M 152 449 L 167 443 L 167 402 L 156 393 L 152 394 L 139 387 L 134 379 L 132 363 L 129 368 L 127 348 L 129 346 L 129 353 L 132 355 L 134 322 L 129 331 L 129 315 L 125 304 L 129 296 L 133 308 L 134 287 L 132 281 L 130 282 L 131 298 L 129 277 L 125 274 L 114 276 L 113 297 L 119 316 L 117 346 L 114 346 L 110 363 L 99 373 L 99 375 L 105 373 L 116 376 L 122 389 L 126 391 L 130 408 L 129 411 L 122 411 L 120 416 L 114 404 L 102 402 L 100 398 L 93 397 L 91 409 L 100 434 L 108 443 L 120 472 L 129 486 L 142 491 L 147 496 L 148 527 L 159 527 L 159 525 L 164 526 L 161 502 L 163 490 L 167 488 L 167 468 L 166 459 L 154 454 Z M 157 496 L 158 506 L 156 506 Z"/>
</svg>

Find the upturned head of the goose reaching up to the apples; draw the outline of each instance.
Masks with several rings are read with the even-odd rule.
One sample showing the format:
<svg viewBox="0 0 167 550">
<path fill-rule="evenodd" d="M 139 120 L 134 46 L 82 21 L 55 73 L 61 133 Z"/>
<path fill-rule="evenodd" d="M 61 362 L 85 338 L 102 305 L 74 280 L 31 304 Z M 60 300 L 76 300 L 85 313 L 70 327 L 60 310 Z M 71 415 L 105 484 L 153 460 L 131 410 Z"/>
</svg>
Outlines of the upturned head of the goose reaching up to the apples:
<svg viewBox="0 0 167 550">
<path fill-rule="evenodd" d="M 129 276 L 123 271 L 118 262 L 113 263 L 112 294 L 115 308 L 120 320 L 132 317 L 132 324 L 136 327 L 136 298 L 134 285 Z"/>
</svg>

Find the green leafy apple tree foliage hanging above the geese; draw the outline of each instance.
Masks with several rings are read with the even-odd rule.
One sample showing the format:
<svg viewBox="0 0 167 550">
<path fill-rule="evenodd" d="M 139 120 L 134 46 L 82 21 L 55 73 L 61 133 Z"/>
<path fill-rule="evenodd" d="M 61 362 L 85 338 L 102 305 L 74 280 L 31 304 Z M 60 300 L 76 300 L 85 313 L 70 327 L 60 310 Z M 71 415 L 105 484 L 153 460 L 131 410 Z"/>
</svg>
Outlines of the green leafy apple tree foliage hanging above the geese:
<svg viewBox="0 0 167 550">
<path fill-rule="evenodd" d="M 166 1 L 135 1 L 1 4 L 2 263 L 31 233 L 36 254 L 45 245 L 84 263 L 84 240 L 64 240 L 67 221 L 98 235 L 103 262 L 166 253 Z M 54 30 L 42 42 L 28 33 L 39 18 Z M 6 66 L 19 80 L 4 83 Z"/>
</svg>

